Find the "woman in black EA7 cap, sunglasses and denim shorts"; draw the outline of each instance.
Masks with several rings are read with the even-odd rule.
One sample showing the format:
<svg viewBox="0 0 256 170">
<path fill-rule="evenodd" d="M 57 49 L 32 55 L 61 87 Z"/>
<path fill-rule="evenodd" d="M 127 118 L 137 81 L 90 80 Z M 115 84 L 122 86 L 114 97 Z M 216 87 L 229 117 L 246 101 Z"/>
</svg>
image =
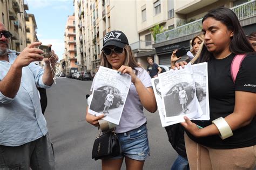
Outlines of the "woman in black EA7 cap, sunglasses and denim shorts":
<svg viewBox="0 0 256 170">
<path fill-rule="evenodd" d="M 151 78 L 146 70 L 139 67 L 133 57 L 127 37 L 122 31 L 106 33 L 100 55 L 101 66 L 131 75 L 131 87 L 126 98 L 120 123 L 116 132 L 122 147 L 117 157 L 102 160 L 102 169 L 120 169 L 125 158 L 126 169 L 143 169 L 149 155 L 146 117 L 143 107 L 149 112 L 157 110 L 156 99 L 151 85 Z M 93 89 L 92 83 L 92 88 Z M 104 115 L 95 117 L 86 113 L 86 121 L 94 126 Z"/>
</svg>

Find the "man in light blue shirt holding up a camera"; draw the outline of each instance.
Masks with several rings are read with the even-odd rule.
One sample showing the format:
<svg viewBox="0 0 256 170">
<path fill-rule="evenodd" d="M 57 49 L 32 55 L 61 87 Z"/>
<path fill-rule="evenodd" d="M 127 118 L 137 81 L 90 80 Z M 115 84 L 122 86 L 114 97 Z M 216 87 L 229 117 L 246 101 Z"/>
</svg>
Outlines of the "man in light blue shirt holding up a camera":
<svg viewBox="0 0 256 170">
<path fill-rule="evenodd" d="M 31 43 L 21 53 L 9 49 L 11 33 L 0 22 L 0 168 L 55 169 L 53 148 L 42 114 L 37 87 L 53 83 L 50 65 Z M 33 62 L 45 62 L 45 70 Z M 2 158 L 2 159 L 1 159 Z"/>
</svg>

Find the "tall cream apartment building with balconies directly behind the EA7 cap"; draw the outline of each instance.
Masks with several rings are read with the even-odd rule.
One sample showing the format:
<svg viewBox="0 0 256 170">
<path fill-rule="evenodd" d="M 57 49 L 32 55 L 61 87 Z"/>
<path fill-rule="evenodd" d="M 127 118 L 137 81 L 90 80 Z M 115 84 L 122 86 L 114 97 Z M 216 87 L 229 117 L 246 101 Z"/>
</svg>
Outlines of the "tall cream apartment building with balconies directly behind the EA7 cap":
<svg viewBox="0 0 256 170">
<path fill-rule="evenodd" d="M 123 31 L 129 43 L 138 42 L 136 1 L 75 0 L 79 70 L 95 72 L 106 32 Z"/>
</svg>

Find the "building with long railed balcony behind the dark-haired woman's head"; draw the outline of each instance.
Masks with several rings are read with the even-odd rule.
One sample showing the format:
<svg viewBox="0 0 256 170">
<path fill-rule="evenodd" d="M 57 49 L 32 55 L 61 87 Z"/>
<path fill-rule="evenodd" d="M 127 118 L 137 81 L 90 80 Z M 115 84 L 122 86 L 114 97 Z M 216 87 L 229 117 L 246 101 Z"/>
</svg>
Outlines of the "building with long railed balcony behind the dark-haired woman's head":
<svg viewBox="0 0 256 170">
<path fill-rule="evenodd" d="M 153 44 L 159 58 L 159 64 L 170 65 L 173 50 L 186 47 L 190 50 L 190 40 L 201 33 L 201 19 L 211 9 L 221 6 L 232 9 L 248 35 L 256 28 L 255 1 L 247 0 L 174 0 L 174 29 L 157 35 Z"/>
</svg>

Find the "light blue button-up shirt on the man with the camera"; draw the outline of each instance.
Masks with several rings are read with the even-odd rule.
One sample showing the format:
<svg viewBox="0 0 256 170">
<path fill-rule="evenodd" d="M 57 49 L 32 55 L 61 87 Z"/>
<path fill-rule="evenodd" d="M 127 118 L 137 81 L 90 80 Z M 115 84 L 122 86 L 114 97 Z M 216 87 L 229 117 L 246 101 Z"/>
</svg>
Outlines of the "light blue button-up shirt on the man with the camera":
<svg viewBox="0 0 256 170">
<path fill-rule="evenodd" d="M 8 51 L 9 62 L 0 60 L 0 80 L 8 73 L 16 59 L 16 52 Z M 0 91 L 0 145 L 20 146 L 41 138 L 48 132 L 42 114 L 38 87 L 48 88 L 43 83 L 44 70 L 30 63 L 22 69 L 21 86 L 14 98 Z"/>
</svg>

